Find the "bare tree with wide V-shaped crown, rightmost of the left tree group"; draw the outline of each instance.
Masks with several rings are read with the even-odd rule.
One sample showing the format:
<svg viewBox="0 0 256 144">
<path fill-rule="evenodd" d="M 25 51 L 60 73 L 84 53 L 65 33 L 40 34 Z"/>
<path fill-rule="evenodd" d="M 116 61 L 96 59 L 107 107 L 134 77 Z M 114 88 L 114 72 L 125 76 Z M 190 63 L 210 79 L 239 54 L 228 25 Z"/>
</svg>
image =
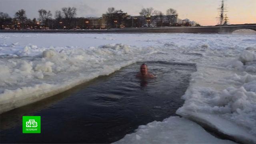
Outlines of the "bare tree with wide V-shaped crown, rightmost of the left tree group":
<svg viewBox="0 0 256 144">
<path fill-rule="evenodd" d="M 76 16 L 76 8 L 75 7 L 64 7 L 62 8 L 62 12 L 64 14 L 64 18 L 66 19 L 67 25 L 71 28 L 72 19 Z"/>
</svg>

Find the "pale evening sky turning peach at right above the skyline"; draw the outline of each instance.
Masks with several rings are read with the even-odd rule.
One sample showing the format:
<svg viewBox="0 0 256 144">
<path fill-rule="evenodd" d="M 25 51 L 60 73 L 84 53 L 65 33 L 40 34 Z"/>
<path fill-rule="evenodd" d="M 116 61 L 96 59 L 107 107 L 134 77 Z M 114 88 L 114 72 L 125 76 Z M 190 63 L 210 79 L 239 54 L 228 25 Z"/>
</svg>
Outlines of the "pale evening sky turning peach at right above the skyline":
<svg viewBox="0 0 256 144">
<path fill-rule="evenodd" d="M 0 12 L 11 17 L 20 9 L 28 18 L 38 18 L 38 10 L 50 10 L 54 15 L 62 7 L 76 7 L 78 17 L 100 17 L 108 7 L 122 9 L 130 15 L 138 15 L 142 8 L 153 7 L 166 13 L 174 8 L 179 18 L 194 20 L 201 25 L 216 25 L 217 8 L 221 0 L 0 0 Z M 226 0 L 227 16 L 231 24 L 256 23 L 256 0 Z"/>
</svg>

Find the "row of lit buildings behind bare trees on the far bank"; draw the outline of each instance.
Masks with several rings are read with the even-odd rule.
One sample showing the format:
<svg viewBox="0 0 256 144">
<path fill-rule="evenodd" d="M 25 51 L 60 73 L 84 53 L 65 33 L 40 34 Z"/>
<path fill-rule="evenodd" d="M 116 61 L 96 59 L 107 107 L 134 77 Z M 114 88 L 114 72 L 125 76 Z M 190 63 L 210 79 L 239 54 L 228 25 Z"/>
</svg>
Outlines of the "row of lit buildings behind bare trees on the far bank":
<svg viewBox="0 0 256 144">
<path fill-rule="evenodd" d="M 27 19 L 19 22 L 11 18 L 8 22 L 1 23 L 0 29 L 107 29 L 107 28 L 131 28 L 131 27 L 157 27 L 175 26 L 178 15 L 159 16 L 130 16 L 123 12 L 102 14 L 100 18 L 73 18 L 68 21 L 65 18 L 48 19 L 45 22 Z"/>
</svg>

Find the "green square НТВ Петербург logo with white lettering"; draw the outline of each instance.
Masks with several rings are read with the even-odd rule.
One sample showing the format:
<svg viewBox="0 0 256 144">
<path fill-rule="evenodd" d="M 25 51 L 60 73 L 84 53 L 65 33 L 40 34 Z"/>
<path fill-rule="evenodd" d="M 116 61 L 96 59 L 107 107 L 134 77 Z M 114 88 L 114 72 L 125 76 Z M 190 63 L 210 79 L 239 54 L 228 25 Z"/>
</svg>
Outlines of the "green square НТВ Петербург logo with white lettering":
<svg viewBox="0 0 256 144">
<path fill-rule="evenodd" d="M 22 133 L 41 133 L 41 116 L 22 116 Z"/>
</svg>

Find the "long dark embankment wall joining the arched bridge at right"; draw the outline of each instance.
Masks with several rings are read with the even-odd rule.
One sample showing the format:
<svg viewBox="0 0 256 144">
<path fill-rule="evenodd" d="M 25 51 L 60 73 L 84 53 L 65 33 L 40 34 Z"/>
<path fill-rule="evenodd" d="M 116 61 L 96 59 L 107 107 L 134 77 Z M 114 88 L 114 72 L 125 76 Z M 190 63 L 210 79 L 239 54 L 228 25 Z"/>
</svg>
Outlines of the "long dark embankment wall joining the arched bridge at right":
<svg viewBox="0 0 256 144">
<path fill-rule="evenodd" d="M 71 33 L 232 33 L 235 30 L 256 31 L 256 24 L 232 24 L 225 26 L 174 26 L 157 28 L 112 28 L 108 30 L 0 30 L 0 32 L 71 32 Z"/>
</svg>

